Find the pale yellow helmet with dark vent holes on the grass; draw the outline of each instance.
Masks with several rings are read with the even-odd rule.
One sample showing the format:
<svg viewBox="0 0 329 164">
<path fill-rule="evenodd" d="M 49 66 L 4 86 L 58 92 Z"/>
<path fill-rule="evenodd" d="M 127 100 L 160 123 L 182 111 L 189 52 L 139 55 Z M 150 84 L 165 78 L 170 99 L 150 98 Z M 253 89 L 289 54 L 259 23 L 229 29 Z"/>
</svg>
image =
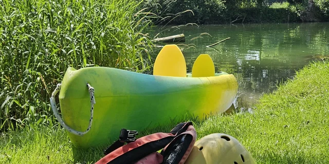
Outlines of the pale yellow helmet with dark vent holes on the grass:
<svg viewBox="0 0 329 164">
<path fill-rule="evenodd" d="M 213 133 L 197 140 L 185 164 L 256 163 L 248 150 L 234 137 Z"/>
</svg>

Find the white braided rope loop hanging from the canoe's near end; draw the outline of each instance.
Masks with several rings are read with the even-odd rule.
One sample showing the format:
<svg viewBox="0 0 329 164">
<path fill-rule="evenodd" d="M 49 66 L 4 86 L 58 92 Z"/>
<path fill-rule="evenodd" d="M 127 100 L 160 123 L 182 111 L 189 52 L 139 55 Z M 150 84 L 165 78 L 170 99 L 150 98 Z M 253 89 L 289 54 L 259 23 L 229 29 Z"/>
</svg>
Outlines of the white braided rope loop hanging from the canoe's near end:
<svg viewBox="0 0 329 164">
<path fill-rule="evenodd" d="M 64 123 L 62 117 L 60 116 L 60 114 L 57 111 L 56 102 L 55 102 L 55 96 L 56 96 L 57 92 L 59 92 L 61 90 L 61 86 L 62 86 L 61 84 L 58 84 L 57 87 L 56 87 L 56 89 L 52 92 L 51 97 L 50 97 L 50 105 L 51 105 L 53 114 L 55 115 L 55 117 L 57 118 L 57 120 L 60 122 L 61 126 L 64 129 L 66 129 L 67 131 L 69 131 L 69 132 L 71 132 L 71 133 L 73 133 L 75 135 L 82 136 L 82 135 L 86 134 L 90 130 L 90 128 L 92 127 L 93 114 L 94 114 L 94 104 L 96 104 L 95 96 L 94 96 L 94 88 L 87 83 L 88 91 L 89 91 L 89 94 L 90 94 L 90 104 L 91 104 L 91 107 L 90 107 L 89 126 L 88 126 L 88 128 L 87 128 L 86 131 L 79 132 L 79 131 L 76 131 L 76 130 L 68 127 Z"/>
</svg>

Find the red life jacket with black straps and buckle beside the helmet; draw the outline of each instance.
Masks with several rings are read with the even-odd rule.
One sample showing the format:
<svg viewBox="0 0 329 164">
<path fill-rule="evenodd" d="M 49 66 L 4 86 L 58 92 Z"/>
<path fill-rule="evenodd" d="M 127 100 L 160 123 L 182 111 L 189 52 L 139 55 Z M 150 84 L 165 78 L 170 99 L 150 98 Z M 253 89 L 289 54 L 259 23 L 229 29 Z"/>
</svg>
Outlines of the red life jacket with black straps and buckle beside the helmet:
<svg viewBox="0 0 329 164">
<path fill-rule="evenodd" d="M 105 156 L 95 164 L 182 164 L 196 140 L 192 122 L 182 122 L 170 133 L 154 133 L 137 140 L 136 134 L 137 131 L 122 129 L 120 139 L 108 147 Z"/>
</svg>

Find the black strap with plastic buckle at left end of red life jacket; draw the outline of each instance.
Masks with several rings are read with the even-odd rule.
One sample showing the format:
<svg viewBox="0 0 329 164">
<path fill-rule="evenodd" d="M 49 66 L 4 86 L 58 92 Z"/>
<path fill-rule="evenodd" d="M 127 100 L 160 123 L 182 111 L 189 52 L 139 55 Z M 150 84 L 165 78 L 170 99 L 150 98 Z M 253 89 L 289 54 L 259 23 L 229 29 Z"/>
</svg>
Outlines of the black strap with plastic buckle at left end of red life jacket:
<svg viewBox="0 0 329 164">
<path fill-rule="evenodd" d="M 115 151 L 116 149 L 122 147 L 124 145 L 124 143 L 129 143 L 129 142 L 135 141 L 136 140 L 135 135 L 138 135 L 137 131 L 130 131 L 130 130 L 126 130 L 126 129 L 122 128 L 120 135 L 119 135 L 119 139 L 117 141 L 115 141 L 114 144 L 109 146 L 106 150 L 104 150 L 104 155 L 107 155 L 107 154 Z"/>
</svg>

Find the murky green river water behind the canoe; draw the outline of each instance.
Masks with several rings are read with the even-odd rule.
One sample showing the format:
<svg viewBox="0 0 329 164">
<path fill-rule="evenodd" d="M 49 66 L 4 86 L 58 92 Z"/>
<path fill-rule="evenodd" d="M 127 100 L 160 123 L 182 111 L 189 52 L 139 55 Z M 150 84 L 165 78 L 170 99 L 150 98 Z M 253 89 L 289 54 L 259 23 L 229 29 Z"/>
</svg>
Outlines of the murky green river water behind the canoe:
<svg viewBox="0 0 329 164">
<path fill-rule="evenodd" d="M 178 46 L 183 49 L 188 72 L 196 57 L 206 53 L 216 72 L 233 74 L 239 83 L 236 111 L 250 110 L 264 93 L 293 78 L 314 56 L 329 55 L 329 23 L 168 26 L 157 32 L 161 36 L 185 34 L 182 44 L 193 47 Z"/>
</svg>

